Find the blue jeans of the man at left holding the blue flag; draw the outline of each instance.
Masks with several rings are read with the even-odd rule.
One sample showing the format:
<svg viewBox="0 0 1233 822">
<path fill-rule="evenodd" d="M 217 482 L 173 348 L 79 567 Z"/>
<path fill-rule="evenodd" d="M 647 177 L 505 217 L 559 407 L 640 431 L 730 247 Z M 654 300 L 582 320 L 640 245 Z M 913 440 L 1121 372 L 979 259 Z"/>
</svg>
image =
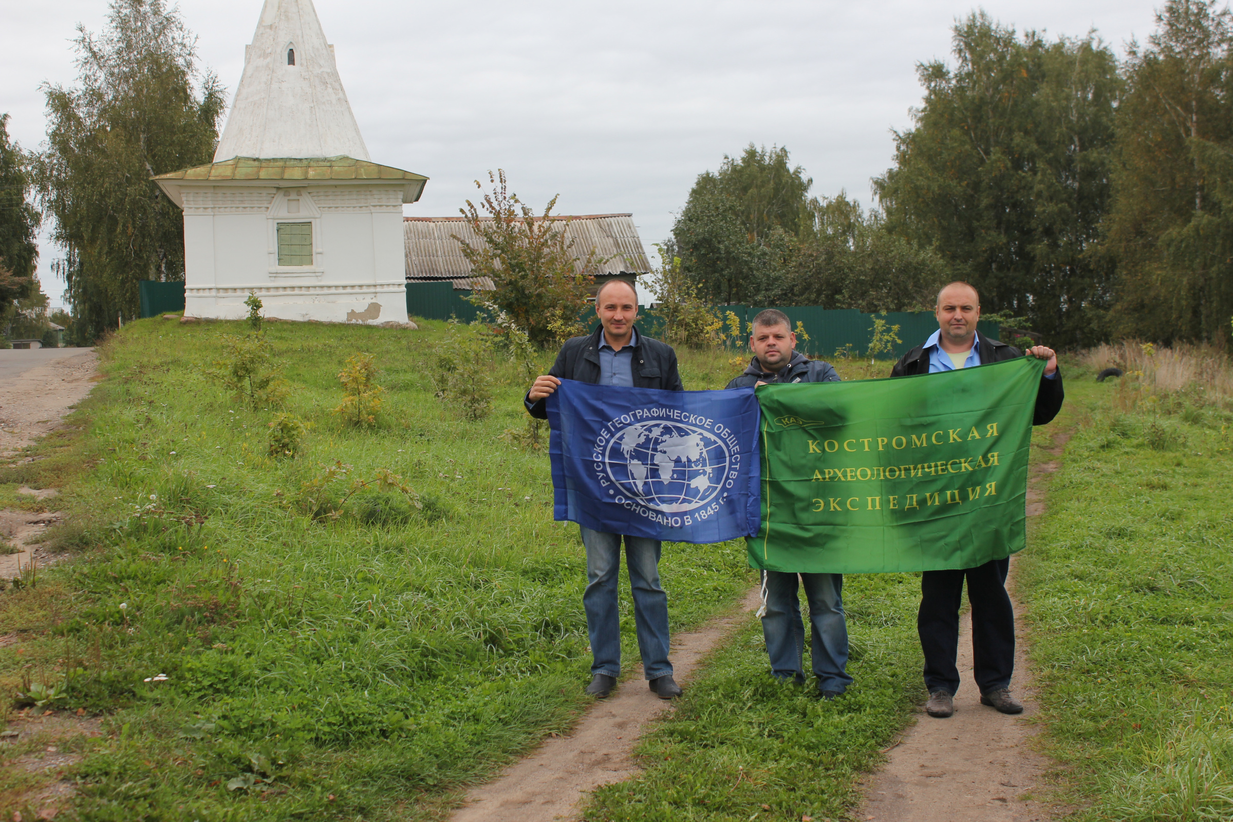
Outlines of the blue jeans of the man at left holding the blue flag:
<svg viewBox="0 0 1233 822">
<path fill-rule="evenodd" d="M 587 611 L 587 633 L 594 663 L 592 674 L 620 677 L 620 611 L 616 606 L 616 580 L 620 576 L 620 541 L 625 540 L 625 564 L 634 594 L 634 625 L 637 649 L 647 679 L 672 673 L 668 662 L 668 595 L 660 588 L 660 541 L 642 536 L 621 537 L 582 529 L 587 547 L 587 590 L 582 606 Z"/>
</svg>

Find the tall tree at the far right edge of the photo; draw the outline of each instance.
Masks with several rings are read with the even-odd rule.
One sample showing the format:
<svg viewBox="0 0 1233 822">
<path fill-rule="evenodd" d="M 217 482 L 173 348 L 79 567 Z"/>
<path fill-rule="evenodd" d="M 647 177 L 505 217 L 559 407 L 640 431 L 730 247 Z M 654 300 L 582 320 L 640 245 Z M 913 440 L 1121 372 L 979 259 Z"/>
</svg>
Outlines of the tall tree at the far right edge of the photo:
<svg viewBox="0 0 1233 822">
<path fill-rule="evenodd" d="M 1233 16 L 1170 0 L 1133 44 L 1118 108 L 1107 248 L 1115 328 L 1229 341 L 1233 317 Z"/>
</svg>

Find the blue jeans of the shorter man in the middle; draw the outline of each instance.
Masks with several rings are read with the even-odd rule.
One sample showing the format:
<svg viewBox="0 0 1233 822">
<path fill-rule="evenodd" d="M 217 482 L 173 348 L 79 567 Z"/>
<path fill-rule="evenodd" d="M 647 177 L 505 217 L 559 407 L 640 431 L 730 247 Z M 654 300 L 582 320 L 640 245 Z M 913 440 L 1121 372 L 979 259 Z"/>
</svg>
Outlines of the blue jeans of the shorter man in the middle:
<svg viewBox="0 0 1233 822">
<path fill-rule="evenodd" d="M 847 675 L 847 624 L 843 620 L 843 574 L 762 572 L 762 636 L 771 673 L 779 679 L 804 679 L 805 625 L 800 619 L 797 577 L 804 582 L 813 626 L 814 675 L 819 690 L 843 693 Z"/>
</svg>

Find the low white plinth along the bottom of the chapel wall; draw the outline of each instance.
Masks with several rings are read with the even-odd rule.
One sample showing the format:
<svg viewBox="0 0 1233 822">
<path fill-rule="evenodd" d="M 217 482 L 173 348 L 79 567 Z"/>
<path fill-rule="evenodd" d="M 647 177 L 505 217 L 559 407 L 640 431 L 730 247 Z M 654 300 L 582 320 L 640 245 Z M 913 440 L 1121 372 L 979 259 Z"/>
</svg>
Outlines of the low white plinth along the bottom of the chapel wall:
<svg viewBox="0 0 1233 822">
<path fill-rule="evenodd" d="M 407 322 L 406 282 L 379 285 L 268 286 L 259 288 L 185 288 L 185 317 L 243 319 L 249 291 L 261 301 L 265 317 L 321 323 Z"/>
</svg>

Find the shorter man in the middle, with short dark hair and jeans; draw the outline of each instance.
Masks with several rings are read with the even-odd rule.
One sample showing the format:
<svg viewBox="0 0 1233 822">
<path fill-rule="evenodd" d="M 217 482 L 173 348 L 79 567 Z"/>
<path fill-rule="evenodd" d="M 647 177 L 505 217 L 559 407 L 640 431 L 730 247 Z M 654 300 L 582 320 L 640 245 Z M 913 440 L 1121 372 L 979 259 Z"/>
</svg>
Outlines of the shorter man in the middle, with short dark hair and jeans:
<svg viewBox="0 0 1233 822">
<path fill-rule="evenodd" d="M 753 318 L 750 329 L 753 359 L 745 373 L 729 388 L 746 388 L 780 382 L 838 382 L 840 376 L 829 362 L 810 360 L 797 351 L 797 335 L 788 315 L 767 308 Z M 797 578 L 809 600 L 814 675 L 817 694 L 835 699 L 852 684 L 847 674 L 847 622 L 843 617 L 843 574 L 762 572 L 762 636 L 771 657 L 771 675 L 780 682 L 805 682 L 805 624 L 800 619 Z"/>
</svg>

